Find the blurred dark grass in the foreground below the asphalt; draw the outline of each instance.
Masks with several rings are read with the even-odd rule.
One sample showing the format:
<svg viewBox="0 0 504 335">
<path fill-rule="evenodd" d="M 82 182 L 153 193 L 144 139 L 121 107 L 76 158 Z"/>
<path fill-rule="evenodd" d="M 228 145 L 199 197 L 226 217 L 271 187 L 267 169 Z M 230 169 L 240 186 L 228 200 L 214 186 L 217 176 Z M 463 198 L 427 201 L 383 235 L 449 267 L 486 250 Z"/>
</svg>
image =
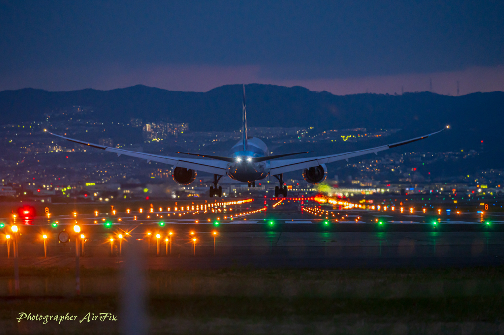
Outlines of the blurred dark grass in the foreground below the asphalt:
<svg viewBox="0 0 504 335">
<path fill-rule="evenodd" d="M 0 270 L 0 334 L 110 333 L 117 323 L 17 323 L 20 312 L 119 314 L 115 270 Z M 149 271 L 155 333 L 504 333 L 504 267 Z M 20 328 L 21 327 L 21 328 Z M 25 328 L 23 328 L 25 327 Z M 7 331 L 6 333 L 11 333 Z"/>
</svg>

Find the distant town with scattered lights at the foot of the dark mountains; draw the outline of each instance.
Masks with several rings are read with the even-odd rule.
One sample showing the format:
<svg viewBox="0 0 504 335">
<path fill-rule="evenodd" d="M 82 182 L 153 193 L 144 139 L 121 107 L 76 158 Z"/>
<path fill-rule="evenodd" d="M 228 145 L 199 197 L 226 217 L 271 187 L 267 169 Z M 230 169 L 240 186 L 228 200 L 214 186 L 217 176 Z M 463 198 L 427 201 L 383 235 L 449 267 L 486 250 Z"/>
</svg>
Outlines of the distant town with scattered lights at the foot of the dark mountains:
<svg viewBox="0 0 504 335">
<path fill-rule="evenodd" d="M 135 198 L 207 197 L 213 176 L 198 174 L 195 182 L 181 186 L 171 178 L 169 166 L 109 153 L 56 139 L 55 133 L 96 139 L 101 145 L 161 155 L 187 152 L 219 153 L 241 138 L 240 131 L 191 131 L 188 123 L 131 118 L 128 123 L 104 124 L 94 120 L 91 106 L 72 106 L 46 113 L 44 122 L 24 122 L 0 127 L 0 199 L 65 202 L 70 199 L 109 202 Z M 249 136 L 265 140 L 278 150 L 288 144 L 331 144 L 387 138 L 401 129 L 331 129 L 313 127 L 252 127 Z M 128 137 L 128 133 L 136 136 Z M 119 140 L 114 140 L 119 138 Z M 372 143 L 372 142 L 369 142 Z M 272 149 L 273 150 L 273 149 Z M 407 149 L 405 149 L 407 150 Z M 483 150 L 483 144 L 481 145 Z M 286 175 L 289 194 L 311 196 L 324 190 L 342 196 L 392 192 L 398 194 L 498 195 L 504 188 L 504 171 L 486 169 L 475 174 L 430 175 L 432 164 L 461 162 L 479 155 L 477 150 L 457 152 L 384 152 L 378 156 L 336 163 L 321 185 L 306 182 L 301 174 Z M 342 166 L 344 168 L 342 168 Z M 331 171 L 333 173 L 331 173 Z M 336 172 L 334 172 L 336 171 Z M 255 188 L 223 178 L 223 196 L 271 195 L 277 185 L 266 178 Z M 502 187 L 502 188 L 501 188 Z"/>
</svg>

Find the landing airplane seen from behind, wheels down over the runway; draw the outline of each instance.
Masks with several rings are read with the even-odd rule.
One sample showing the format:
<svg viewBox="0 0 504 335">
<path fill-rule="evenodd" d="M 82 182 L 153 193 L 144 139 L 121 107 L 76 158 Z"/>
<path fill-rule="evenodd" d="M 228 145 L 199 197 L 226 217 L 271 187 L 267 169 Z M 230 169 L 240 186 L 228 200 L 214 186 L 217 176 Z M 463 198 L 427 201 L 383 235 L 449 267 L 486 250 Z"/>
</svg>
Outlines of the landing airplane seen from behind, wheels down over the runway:
<svg viewBox="0 0 504 335">
<path fill-rule="evenodd" d="M 449 126 L 447 126 L 446 128 L 449 128 Z M 230 178 L 241 182 L 247 182 L 248 187 L 256 187 L 256 181 L 264 179 L 268 175 L 271 175 L 275 177 L 279 183 L 279 186 L 275 186 L 275 197 L 278 197 L 279 195 L 287 197 L 287 186 L 285 185 L 283 180 L 283 174 L 286 172 L 302 170 L 302 176 L 304 180 L 306 180 L 310 184 L 318 184 L 323 182 L 327 177 L 326 164 L 341 160 L 346 160 L 348 162 L 350 158 L 367 154 L 378 155 L 379 151 L 424 140 L 432 135 L 435 135 L 436 133 L 445 130 L 446 128 L 414 139 L 342 154 L 308 158 L 278 159 L 288 156 L 307 154 L 310 153 L 310 151 L 269 156 L 268 147 L 263 141 L 256 137 L 248 137 L 245 105 L 245 85 L 243 85 L 242 140 L 231 148 L 228 157 L 182 152 L 177 153 L 187 156 L 198 156 L 201 158 L 181 158 L 153 155 L 136 151 L 111 148 L 76 139 L 70 139 L 64 136 L 53 134 L 46 129 L 44 129 L 44 131 L 49 132 L 50 135 L 57 136 L 70 142 L 79 143 L 85 146 L 115 153 L 117 154 L 117 157 L 124 155 L 145 159 L 147 160 L 147 162 L 153 161 L 172 165 L 174 167 L 172 172 L 173 180 L 175 180 L 175 182 L 180 185 L 188 185 L 195 181 L 197 171 L 212 173 L 214 175 L 214 181 L 213 186 L 210 186 L 210 197 L 213 197 L 214 195 L 222 197 L 222 186 L 218 186 L 218 182 L 225 175 L 228 175 Z"/>
</svg>

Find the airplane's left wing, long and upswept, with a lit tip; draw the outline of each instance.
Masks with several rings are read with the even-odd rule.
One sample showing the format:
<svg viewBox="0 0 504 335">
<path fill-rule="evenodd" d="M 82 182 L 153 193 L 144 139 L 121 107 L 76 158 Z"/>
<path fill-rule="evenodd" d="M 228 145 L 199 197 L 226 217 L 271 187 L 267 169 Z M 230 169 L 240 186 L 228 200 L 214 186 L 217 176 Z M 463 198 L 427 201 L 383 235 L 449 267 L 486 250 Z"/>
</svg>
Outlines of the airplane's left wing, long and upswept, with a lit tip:
<svg viewBox="0 0 504 335">
<path fill-rule="evenodd" d="M 47 131 L 51 135 L 57 136 L 61 139 L 65 139 L 70 142 L 74 143 L 79 143 L 85 146 L 97 148 L 97 149 L 102 149 L 108 152 L 112 152 L 114 154 L 117 154 L 117 157 L 120 155 L 124 156 L 131 156 L 131 157 L 136 157 L 136 158 L 141 158 L 153 162 L 159 162 L 159 163 L 165 163 L 169 165 L 173 165 L 173 167 L 182 167 L 186 169 L 193 169 L 193 170 L 198 170 L 198 171 L 204 171 L 204 172 L 209 172 L 209 173 L 214 173 L 218 175 L 226 175 L 227 172 L 227 162 L 223 161 L 213 161 L 213 160 L 207 160 L 207 159 L 186 159 L 186 158 L 178 158 L 178 157 L 168 157 L 168 156 L 160 156 L 160 155 L 153 155 L 153 154 L 144 154 L 141 152 L 137 151 L 130 151 L 130 150 L 124 150 L 124 149 L 117 149 L 117 148 L 112 148 L 112 147 L 106 147 L 106 146 L 101 146 L 99 144 L 94 144 L 94 143 L 89 143 L 85 141 L 80 141 L 80 140 L 75 140 L 75 139 L 70 139 L 61 135 L 56 135 L 53 134 L 52 132 Z"/>
</svg>

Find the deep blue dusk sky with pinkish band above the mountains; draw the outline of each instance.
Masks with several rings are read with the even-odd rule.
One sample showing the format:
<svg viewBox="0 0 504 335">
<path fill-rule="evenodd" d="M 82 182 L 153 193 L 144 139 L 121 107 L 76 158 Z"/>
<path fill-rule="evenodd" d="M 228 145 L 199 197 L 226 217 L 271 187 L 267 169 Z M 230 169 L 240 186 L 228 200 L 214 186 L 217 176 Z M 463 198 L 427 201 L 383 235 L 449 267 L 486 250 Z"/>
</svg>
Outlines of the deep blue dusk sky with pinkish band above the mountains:
<svg viewBox="0 0 504 335">
<path fill-rule="evenodd" d="M 504 2 L 0 0 L 0 90 L 456 95 L 457 81 L 504 91 Z"/>
</svg>

